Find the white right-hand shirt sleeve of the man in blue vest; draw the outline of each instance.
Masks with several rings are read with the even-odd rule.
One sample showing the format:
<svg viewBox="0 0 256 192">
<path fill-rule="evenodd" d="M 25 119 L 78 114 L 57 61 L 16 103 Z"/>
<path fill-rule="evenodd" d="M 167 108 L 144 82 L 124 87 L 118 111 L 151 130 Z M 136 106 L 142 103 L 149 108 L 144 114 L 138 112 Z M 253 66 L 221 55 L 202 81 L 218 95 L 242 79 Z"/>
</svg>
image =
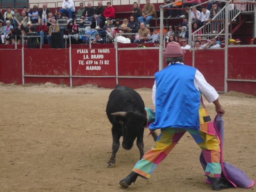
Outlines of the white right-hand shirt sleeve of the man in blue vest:
<svg viewBox="0 0 256 192">
<path fill-rule="evenodd" d="M 194 84 L 196 89 L 204 95 L 209 103 L 219 98 L 219 94 L 206 82 L 203 74 L 198 70 L 196 70 Z"/>
</svg>

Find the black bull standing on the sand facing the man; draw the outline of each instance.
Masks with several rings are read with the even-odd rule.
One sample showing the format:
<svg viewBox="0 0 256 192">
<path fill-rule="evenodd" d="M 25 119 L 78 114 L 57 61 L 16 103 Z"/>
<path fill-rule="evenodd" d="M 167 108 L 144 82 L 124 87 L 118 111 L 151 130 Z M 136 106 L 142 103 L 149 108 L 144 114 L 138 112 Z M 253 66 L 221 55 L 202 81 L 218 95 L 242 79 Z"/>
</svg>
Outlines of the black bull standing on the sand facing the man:
<svg viewBox="0 0 256 192">
<path fill-rule="evenodd" d="M 140 159 L 144 155 L 143 133 L 147 124 L 147 113 L 139 93 L 130 87 L 116 85 L 110 93 L 106 113 L 112 124 L 112 155 L 108 161 L 108 167 L 114 167 L 116 152 L 120 146 L 119 139 L 123 136 L 122 147 L 131 149 L 137 137 L 137 146 L 140 150 Z M 156 140 L 156 133 L 152 134 Z"/>
</svg>

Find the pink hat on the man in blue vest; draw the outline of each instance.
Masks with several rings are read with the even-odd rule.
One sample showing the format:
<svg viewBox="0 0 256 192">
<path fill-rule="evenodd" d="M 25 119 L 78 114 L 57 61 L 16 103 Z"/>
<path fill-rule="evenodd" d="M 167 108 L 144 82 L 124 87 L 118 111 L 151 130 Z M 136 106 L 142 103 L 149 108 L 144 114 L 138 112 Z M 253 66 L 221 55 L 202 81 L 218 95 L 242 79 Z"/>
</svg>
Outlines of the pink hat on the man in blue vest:
<svg viewBox="0 0 256 192">
<path fill-rule="evenodd" d="M 164 51 L 164 57 L 183 57 L 186 51 L 181 49 L 178 42 L 172 41 L 167 44 L 166 50 Z"/>
</svg>

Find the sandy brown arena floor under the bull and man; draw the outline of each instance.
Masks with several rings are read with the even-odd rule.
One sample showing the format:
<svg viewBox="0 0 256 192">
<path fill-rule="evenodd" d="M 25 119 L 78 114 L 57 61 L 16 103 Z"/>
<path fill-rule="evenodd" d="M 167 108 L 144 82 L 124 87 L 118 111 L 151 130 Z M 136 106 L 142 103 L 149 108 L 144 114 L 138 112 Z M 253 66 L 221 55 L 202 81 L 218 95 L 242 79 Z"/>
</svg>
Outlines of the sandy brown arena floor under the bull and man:
<svg viewBox="0 0 256 192">
<path fill-rule="evenodd" d="M 212 191 L 206 184 L 200 149 L 186 133 L 150 180 L 118 185 L 139 160 L 135 145 L 120 148 L 116 167 L 111 155 L 111 124 L 105 114 L 112 90 L 95 86 L 69 88 L 0 84 L 0 191 Z M 152 107 L 151 89 L 137 89 Z M 256 180 L 256 98 L 237 92 L 220 95 L 224 116 L 224 159 Z M 214 105 L 206 103 L 213 118 Z M 144 133 L 144 151 L 154 143 Z M 252 189 L 255 189 L 253 187 Z M 225 191 L 252 191 L 228 189 Z"/>
</svg>

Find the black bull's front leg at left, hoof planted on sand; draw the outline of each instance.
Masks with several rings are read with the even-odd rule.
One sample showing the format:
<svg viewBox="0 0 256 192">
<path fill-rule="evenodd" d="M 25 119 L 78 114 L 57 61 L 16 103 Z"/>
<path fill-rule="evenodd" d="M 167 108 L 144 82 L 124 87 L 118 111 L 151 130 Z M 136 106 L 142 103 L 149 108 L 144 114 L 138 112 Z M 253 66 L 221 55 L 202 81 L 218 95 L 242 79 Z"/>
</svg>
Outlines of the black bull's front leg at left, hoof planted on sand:
<svg viewBox="0 0 256 192">
<path fill-rule="evenodd" d="M 112 154 L 108 161 L 107 167 L 115 167 L 116 163 L 116 152 L 119 149 L 120 142 L 119 139 L 121 137 L 120 131 L 116 129 L 113 125 L 112 127 L 112 136 L 113 136 L 113 143 L 112 143 Z"/>
</svg>

